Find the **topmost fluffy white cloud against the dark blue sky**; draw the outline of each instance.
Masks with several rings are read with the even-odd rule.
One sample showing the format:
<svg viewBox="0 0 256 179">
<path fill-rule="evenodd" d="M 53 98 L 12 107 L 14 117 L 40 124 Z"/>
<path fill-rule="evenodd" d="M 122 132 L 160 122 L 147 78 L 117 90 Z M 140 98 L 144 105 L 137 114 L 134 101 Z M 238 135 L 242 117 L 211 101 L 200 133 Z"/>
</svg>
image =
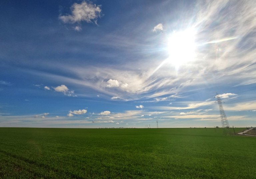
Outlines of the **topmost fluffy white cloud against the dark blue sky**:
<svg viewBox="0 0 256 179">
<path fill-rule="evenodd" d="M 71 15 L 60 16 L 59 18 L 64 23 L 79 23 L 85 21 L 87 23 L 95 22 L 97 24 L 97 18 L 101 17 L 101 5 L 92 4 L 90 2 L 83 1 L 81 4 L 74 3 L 71 6 Z"/>
</svg>

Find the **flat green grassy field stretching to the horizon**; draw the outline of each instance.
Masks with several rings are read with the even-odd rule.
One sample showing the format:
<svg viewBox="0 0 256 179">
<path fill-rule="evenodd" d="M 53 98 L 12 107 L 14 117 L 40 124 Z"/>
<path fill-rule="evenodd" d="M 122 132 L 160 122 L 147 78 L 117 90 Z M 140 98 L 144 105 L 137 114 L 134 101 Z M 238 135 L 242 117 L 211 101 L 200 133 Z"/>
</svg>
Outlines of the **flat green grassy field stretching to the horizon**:
<svg viewBox="0 0 256 179">
<path fill-rule="evenodd" d="M 255 151 L 221 128 L 0 128 L 0 178 L 251 179 Z"/>
</svg>

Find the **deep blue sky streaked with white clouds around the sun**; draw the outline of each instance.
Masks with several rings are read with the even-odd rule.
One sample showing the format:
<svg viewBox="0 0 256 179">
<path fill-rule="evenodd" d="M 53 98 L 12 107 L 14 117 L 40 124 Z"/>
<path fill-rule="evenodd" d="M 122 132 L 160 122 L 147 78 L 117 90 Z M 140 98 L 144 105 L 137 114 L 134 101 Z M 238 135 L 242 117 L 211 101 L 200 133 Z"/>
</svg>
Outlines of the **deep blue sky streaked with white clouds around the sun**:
<svg viewBox="0 0 256 179">
<path fill-rule="evenodd" d="M 3 1 L 1 127 L 256 125 L 255 1 Z"/>
</svg>

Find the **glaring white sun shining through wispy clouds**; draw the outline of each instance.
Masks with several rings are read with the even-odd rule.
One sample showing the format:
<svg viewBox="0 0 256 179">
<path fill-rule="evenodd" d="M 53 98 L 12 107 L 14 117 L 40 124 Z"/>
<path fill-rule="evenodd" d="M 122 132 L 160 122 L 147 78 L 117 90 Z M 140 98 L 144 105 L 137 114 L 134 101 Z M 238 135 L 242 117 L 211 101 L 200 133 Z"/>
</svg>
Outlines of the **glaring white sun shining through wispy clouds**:
<svg viewBox="0 0 256 179">
<path fill-rule="evenodd" d="M 173 32 L 170 35 L 168 43 L 168 61 L 173 64 L 176 69 L 195 58 L 195 34 L 194 29 L 187 29 L 185 31 Z"/>
</svg>

